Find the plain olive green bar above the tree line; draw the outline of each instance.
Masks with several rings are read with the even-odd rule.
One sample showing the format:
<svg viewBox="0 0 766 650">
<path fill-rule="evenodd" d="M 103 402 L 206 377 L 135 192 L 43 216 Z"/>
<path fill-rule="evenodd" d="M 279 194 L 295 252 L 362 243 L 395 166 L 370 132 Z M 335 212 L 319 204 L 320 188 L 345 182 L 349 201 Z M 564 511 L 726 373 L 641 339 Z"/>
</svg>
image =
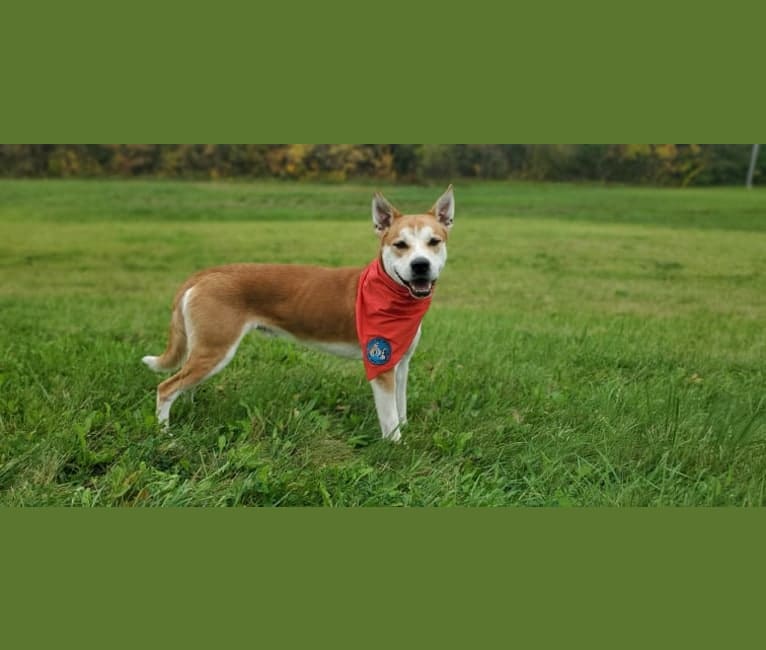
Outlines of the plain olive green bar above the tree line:
<svg viewBox="0 0 766 650">
<path fill-rule="evenodd" d="M 752 2 L 47 4 L 4 4 L 3 142 L 751 142 L 766 130 Z"/>
</svg>

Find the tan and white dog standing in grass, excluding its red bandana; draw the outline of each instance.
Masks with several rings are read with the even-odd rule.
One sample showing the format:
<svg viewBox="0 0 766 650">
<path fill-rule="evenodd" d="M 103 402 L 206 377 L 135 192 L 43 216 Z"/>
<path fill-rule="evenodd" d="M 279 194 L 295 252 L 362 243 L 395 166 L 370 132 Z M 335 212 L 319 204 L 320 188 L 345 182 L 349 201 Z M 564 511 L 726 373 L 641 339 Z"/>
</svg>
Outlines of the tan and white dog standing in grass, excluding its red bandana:
<svg viewBox="0 0 766 650">
<path fill-rule="evenodd" d="M 372 219 L 380 238 L 379 268 L 385 271 L 385 282 L 403 292 L 404 300 L 430 300 L 447 260 L 447 236 L 454 215 L 451 185 L 425 214 L 403 215 L 381 194 L 375 194 Z M 167 349 L 161 356 L 143 358 L 157 372 L 181 366 L 157 387 L 159 422 L 167 427 L 173 402 L 220 372 L 253 329 L 341 356 L 362 357 L 355 311 L 365 270 L 231 264 L 191 276 L 173 302 Z M 425 309 L 427 305 L 421 311 Z M 381 432 L 394 441 L 401 438 L 400 428 L 407 421 L 407 374 L 420 340 L 419 322 L 396 365 L 370 381 Z"/>
</svg>

